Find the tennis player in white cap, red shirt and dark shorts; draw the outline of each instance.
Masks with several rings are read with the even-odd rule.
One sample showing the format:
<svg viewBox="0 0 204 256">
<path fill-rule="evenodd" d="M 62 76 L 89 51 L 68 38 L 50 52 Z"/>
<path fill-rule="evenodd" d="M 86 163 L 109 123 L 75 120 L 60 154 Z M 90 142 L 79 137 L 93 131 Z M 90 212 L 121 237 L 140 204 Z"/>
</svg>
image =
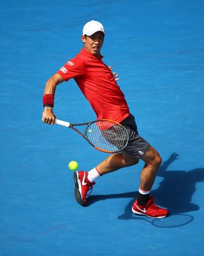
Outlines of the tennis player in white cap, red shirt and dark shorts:
<svg viewBox="0 0 204 256">
<path fill-rule="evenodd" d="M 81 92 L 90 102 L 97 119 L 107 118 L 120 122 L 129 133 L 129 143 L 125 150 L 109 155 L 102 163 L 89 172 L 75 172 L 75 198 L 86 206 L 88 191 L 91 192 L 95 180 L 110 172 L 144 161 L 141 182 L 132 212 L 151 218 L 164 218 L 168 210 L 155 205 L 150 192 L 157 170 L 161 164 L 159 153 L 137 132 L 135 118 L 131 115 L 123 92 L 117 84 L 118 74 L 102 61 L 100 49 L 104 43 L 104 26 L 95 20 L 87 22 L 82 29 L 84 47 L 72 60 L 68 60 L 45 85 L 43 95 L 44 111 L 42 121 L 53 125 L 56 119 L 52 108 L 56 86 L 71 78 L 75 79 Z M 89 194 L 90 195 L 90 194 Z"/>
</svg>

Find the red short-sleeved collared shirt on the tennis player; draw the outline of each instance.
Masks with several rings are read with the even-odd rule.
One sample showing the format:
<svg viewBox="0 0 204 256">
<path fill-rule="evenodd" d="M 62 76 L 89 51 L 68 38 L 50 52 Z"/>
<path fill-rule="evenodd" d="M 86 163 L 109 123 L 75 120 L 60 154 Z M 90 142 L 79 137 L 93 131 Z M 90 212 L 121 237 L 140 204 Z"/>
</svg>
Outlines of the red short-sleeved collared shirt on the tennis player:
<svg viewBox="0 0 204 256">
<path fill-rule="evenodd" d="M 74 78 L 97 118 L 122 122 L 130 115 L 129 107 L 114 76 L 102 61 L 102 56 L 93 56 L 82 49 L 72 60 L 58 70 L 65 81 Z"/>
</svg>

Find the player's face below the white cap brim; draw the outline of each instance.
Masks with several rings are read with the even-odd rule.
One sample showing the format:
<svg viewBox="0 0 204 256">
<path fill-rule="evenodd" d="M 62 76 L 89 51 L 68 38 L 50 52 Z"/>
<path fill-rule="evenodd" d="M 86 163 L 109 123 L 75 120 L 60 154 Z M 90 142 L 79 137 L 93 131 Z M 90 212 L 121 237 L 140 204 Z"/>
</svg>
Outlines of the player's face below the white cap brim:
<svg viewBox="0 0 204 256">
<path fill-rule="evenodd" d="M 104 33 L 98 31 L 91 36 L 82 36 L 82 42 L 86 51 L 98 57 L 104 43 Z"/>
</svg>

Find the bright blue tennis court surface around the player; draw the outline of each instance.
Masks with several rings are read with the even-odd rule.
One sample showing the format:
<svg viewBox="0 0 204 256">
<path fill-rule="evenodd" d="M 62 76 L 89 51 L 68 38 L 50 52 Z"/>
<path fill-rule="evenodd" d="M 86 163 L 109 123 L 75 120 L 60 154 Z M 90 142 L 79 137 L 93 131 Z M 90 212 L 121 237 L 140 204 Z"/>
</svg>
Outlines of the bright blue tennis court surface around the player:
<svg viewBox="0 0 204 256">
<path fill-rule="evenodd" d="M 204 3 L 159 1 L 2 1 L 1 256 L 204 254 Z M 139 133 L 162 157 L 153 185 L 161 220 L 131 211 L 143 163 L 104 175 L 75 202 L 73 172 L 106 153 L 74 131 L 42 123 L 45 82 L 82 48 L 82 26 L 104 24 L 104 62 Z M 95 120 L 74 80 L 60 84 L 55 115 Z"/>
</svg>

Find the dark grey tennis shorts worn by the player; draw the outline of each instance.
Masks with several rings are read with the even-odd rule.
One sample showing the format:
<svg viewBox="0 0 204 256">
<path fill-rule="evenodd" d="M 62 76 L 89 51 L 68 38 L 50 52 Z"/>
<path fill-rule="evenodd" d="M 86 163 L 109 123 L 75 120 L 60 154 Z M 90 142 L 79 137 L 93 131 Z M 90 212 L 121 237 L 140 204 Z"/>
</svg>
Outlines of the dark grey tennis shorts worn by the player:
<svg viewBox="0 0 204 256">
<path fill-rule="evenodd" d="M 137 157 L 139 159 L 148 150 L 150 144 L 139 136 L 137 132 L 137 125 L 133 115 L 127 116 L 122 122 L 120 122 L 129 134 L 129 142 L 127 146 L 123 149 L 126 153 Z"/>
</svg>

